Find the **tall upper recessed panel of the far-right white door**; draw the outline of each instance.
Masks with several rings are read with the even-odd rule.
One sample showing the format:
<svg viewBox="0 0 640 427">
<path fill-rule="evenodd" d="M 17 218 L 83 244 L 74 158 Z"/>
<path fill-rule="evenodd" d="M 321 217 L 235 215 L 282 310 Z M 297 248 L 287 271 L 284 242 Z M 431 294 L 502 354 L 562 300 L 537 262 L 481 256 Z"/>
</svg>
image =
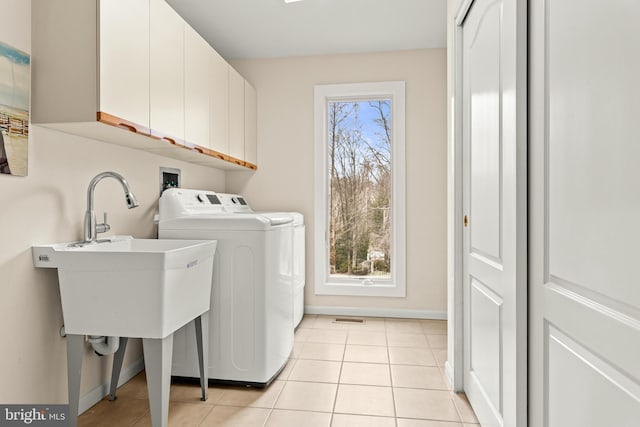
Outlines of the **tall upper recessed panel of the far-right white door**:
<svg viewBox="0 0 640 427">
<path fill-rule="evenodd" d="M 637 2 L 613 3 L 549 2 L 549 275 L 639 308 L 628 284 L 640 228 L 619 219 L 640 203 L 629 192 L 640 176 L 640 13 Z"/>
</svg>

